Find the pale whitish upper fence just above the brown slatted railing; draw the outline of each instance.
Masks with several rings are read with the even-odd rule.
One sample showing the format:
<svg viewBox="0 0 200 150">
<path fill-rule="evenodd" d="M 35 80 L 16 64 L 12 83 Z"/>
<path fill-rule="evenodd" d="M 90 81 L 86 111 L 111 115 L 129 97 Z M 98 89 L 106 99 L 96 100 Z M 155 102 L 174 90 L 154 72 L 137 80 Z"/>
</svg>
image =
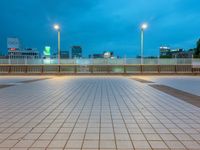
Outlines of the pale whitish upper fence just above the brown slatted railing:
<svg viewBox="0 0 200 150">
<path fill-rule="evenodd" d="M 152 65 L 175 65 L 175 64 L 200 64 L 200 59 L 191 58 L 144 58 L 143 64 Z M 58 64 L 57 59 L 0 59 L 0 64 Z M 141 64 L 140 58 L 123 59 L 61 59 L 60 64 L 78 64 L 78 65 L 132 65 Z"/>
</svg>

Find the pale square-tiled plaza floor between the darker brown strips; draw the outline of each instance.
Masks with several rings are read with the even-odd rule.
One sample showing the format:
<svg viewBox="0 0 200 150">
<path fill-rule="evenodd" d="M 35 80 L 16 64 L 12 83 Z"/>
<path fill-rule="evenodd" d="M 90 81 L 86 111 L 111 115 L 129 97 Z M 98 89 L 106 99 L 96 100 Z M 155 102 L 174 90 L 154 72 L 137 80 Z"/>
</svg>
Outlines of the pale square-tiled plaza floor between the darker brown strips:
<svg viewBox="0 0 200 150">
<path fill-rule="evenodd" d="M 127 77 L 48 78 L 0 79 L 0 150 L 200 150 L 196 106 Z"/>
</svg>

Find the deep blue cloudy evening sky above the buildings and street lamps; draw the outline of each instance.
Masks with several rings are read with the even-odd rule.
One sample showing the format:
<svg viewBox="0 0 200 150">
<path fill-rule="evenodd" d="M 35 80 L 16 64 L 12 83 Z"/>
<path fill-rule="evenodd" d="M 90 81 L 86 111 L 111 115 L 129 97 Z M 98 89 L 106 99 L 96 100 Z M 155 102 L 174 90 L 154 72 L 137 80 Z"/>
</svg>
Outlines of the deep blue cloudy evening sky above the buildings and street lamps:
<svg viewBox="0 0 200 150">
<path fill-rule="evenodd" d="M 140 24 L 145 31 L 145 55 L 158 55 L 161 45 L 189 49 L 200 38 L 199 0 L 1 0 L 0 51 L 7 37 L 19 37 L 24 47 L 57 46 L 54 23 L 61 25 L 61 47 L 81 45 L 84 55 L 114 51 L 140 53 Z"/>
</svg>

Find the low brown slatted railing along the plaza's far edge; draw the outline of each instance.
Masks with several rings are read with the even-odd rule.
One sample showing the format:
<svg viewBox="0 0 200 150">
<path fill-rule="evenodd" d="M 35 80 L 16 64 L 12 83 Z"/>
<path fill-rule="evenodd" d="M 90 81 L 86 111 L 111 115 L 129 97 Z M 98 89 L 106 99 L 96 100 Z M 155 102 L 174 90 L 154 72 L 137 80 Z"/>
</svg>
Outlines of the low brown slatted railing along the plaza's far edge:
<svg viewBox="0 0 200 150">
<path fill-rule="evenodd" d="M 200 74 L 192 65 L 0 65 L 0 74 Z"/>
</svg>

